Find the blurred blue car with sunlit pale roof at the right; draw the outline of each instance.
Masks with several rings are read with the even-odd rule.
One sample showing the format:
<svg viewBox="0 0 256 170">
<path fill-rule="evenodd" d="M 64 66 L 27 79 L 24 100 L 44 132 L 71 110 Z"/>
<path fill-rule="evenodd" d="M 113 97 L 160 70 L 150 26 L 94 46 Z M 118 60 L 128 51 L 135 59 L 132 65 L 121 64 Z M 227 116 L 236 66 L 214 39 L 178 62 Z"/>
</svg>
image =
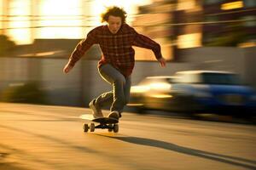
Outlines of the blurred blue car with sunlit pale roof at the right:
<svg viewBox="0 0 256 170">
<path fill-rule="evenodd" d="M 183 111 L 246 116 L 256 108 L 253 88 L 228 71 L 178 71 L 171 94 Z M 183 103 L 183 104 L 182 104 Z M 176 108 L 179 110 L 180 108 Z"/>
</svg>

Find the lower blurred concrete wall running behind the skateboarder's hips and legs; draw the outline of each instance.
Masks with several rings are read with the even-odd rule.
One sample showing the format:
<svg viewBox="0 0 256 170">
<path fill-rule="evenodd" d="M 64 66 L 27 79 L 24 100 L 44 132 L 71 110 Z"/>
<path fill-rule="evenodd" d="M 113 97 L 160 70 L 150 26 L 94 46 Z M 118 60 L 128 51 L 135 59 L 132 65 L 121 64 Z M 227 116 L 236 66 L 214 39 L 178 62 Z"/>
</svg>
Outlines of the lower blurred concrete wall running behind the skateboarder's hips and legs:
<svg viewBox="0 0 256 170">
<path fill-rule="evenodd" d="M 112 89 L 97 71 L 97 60 L 80 60 L 68 74 L 62 72 L 67 59 L 0 58 L 0 92 L 14 85 L 39 82 L 40 89 L 52 105 L 88 105 L 91 99 Z M 193 69 L 190 64 L 168 63 L 161 68 L 157 62 L 136 63 L 132 84 L 143 77 L 172 75 L 175 71 Z"/>
</svg>

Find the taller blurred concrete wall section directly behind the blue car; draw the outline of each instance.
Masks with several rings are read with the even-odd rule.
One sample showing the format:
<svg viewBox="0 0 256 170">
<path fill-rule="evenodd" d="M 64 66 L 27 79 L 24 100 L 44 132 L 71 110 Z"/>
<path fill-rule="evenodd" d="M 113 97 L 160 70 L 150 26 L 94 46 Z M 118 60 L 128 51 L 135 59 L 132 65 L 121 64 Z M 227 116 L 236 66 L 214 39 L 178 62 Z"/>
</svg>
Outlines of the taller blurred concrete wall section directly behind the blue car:
<svg viewBox="0 0 256 170">
<path fill-rule="evenodd" d="M 182 62 L 195 64 L 198 70 L 235 71 L 256 87 L 256 48 L 190 48 L 180 55 Z"/>
</svg>

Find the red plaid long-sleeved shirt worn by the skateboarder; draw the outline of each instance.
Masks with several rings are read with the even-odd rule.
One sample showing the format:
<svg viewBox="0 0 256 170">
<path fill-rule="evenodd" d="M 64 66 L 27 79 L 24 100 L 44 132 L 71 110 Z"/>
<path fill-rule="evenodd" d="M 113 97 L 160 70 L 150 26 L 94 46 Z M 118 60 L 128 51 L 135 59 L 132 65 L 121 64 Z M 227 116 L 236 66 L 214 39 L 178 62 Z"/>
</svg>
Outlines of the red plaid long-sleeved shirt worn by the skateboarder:
<svg viewBox="0 0 256 170">
<path fill-rule="evenodd" d="M 131 46 L 151 49 L 156 59 L 162 57 L 160 45 L 157 42 L 138 34 L 127 24 L 123 24 L 116 34 L 112 34 L 108 26 L 98 26 L 79 42 L 69 59 L 70 65 L 75 65 L 93 44 L 99 44 L 102 49 L 102 59 L 98 66 L 101 67 L 107 63 L 113 65 L 125 77 L 131 75 L 134 67 L 135 52 Z"/>
</svg>

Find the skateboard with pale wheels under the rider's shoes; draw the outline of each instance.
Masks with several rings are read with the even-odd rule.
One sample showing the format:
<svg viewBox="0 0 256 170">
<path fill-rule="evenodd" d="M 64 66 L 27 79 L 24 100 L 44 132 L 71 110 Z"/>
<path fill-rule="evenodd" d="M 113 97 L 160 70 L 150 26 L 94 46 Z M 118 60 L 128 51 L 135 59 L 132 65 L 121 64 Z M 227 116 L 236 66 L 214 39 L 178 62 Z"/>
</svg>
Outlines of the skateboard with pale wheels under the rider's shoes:
<svg viewBox="0 0 256 170">
<path fill-rule="evenodd" d="M 97 122 L 100 124 L 95 125 L 95 123 L 93 122 Z M 91 119 L 90 124 L 84 123 L 84 133 L 87 133 L 89 130 L 90 132 L 94 132 L 96 128 L 102 128 L 102 129 L 108 128 L 108 132 L 113 131 L 114 133 L 118 133 L 119 132 L 118 122 L 119 122 L 118 120 L 108 118 L 108 117 Z"/>
</svg>

